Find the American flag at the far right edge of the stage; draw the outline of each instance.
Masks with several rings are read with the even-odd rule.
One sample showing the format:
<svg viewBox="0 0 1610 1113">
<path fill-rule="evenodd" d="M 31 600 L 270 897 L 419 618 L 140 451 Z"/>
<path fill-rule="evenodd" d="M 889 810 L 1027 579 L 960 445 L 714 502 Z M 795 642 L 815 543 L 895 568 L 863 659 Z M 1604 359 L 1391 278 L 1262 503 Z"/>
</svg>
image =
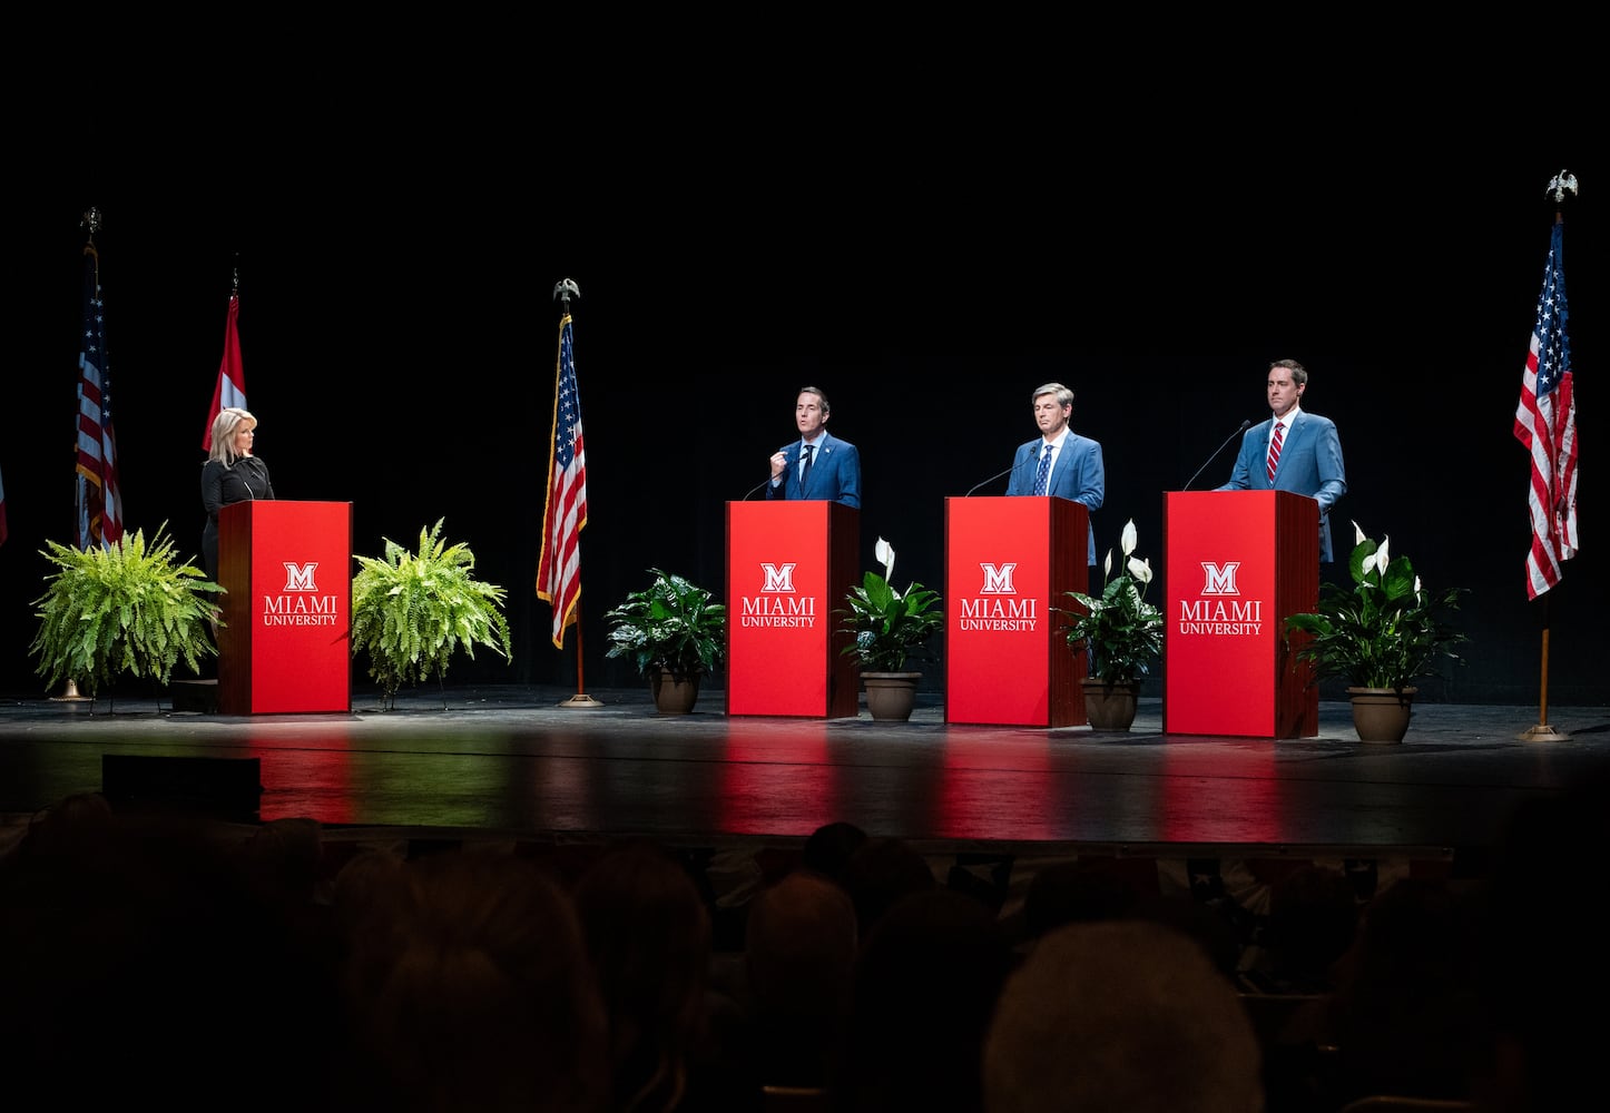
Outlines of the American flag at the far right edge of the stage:
<svg viewBox="0 0 1610 1113">
<path fill-rule="evenodd" d="M 1538 598 L 1558 584 L 1560 565 L 1576 555 L 1576 400 L 1571 396 L 1571 346 L 1565 336 L 1563 233 L 1563 222 L 1555 219 L 1515 410 L 1515 439 L 1531 449 L 1526 598 Z"/>
</svg>

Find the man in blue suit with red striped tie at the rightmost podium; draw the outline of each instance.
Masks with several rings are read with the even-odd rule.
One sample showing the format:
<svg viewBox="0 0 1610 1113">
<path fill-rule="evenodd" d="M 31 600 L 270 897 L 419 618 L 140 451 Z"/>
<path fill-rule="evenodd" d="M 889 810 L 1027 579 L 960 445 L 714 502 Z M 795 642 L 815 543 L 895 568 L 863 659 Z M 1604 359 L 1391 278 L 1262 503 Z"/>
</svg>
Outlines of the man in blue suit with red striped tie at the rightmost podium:
<svg viewBox="0 0 1610 1113">
<path fill-rule="evenodd" d="M 1241 437 L 1230 483 L 1214 491 L 1294 491 L 1319 502 L 1319 558 L 1330 550 L 1330 508 L 1348 494 L 1336 423 L 1298 405 L 1307 389 L 1307 370 L 1294 359 L 1269 365 L 1269 409 L 1262 425 Z"/>
</svg>

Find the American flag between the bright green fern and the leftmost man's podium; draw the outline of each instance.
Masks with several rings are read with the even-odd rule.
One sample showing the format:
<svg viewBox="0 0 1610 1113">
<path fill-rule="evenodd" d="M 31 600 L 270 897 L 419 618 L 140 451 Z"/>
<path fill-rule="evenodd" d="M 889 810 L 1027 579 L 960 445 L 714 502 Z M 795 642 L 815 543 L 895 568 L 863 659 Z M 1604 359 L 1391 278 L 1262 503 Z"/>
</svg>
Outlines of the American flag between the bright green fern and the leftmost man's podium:
<svg viewBox="0 0 1610 1113">
<path fill-rule="evenodd" d="M 572 351 L 570 314 L 559 322 L 559 380 L 554 384 L 554 444 L 547 457 L 547 507 L 536 597 L 554 606 L 554 645 L 565 648 L 565 627 L 581 598 L 581 528 L 588 524 L 588 458 L 581 446 L 581 396 Z"/>
</svg>

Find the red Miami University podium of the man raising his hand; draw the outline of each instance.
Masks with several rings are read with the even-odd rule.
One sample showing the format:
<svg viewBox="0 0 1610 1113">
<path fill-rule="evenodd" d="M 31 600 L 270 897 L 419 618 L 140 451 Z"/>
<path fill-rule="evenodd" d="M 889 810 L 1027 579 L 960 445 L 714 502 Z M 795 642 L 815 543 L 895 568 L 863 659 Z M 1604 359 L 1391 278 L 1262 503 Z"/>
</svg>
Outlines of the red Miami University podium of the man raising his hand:
<svg viewBox="0 0 1610 1113">
<path fill-rule="evenodd" d="M 824 500 L 726 503 L 726 713 L 845 719 L 860 667 L 839 635 L 860 582 L 861 511 Z"/>
</svg>

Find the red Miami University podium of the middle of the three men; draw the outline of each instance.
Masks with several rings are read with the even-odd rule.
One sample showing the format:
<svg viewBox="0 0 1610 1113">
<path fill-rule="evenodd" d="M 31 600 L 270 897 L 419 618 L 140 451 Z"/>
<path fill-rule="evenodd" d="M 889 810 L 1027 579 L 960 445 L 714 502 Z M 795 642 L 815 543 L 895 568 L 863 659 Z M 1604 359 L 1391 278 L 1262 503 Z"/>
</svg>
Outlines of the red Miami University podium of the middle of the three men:
<svg viewBox="0 0 1610 1113">
<path fill-rule="evenodd" d="M 1055 495 L 945 500 L 945 722 L 1087 721 L 1085 659 L 1051 608 L 1085 590 L 1088 528 Z"/>
</svg>

